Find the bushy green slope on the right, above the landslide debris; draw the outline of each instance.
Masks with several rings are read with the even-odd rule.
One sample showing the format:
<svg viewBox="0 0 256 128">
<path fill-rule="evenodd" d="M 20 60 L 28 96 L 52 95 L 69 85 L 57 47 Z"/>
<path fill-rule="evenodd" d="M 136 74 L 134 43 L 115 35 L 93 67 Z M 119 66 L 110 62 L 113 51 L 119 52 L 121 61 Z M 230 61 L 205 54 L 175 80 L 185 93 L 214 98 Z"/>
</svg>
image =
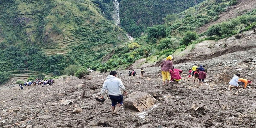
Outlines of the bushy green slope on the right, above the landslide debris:
<svg viewBox="0 0 256 128">
<path fill-rule="evenodd" d="M 185 48 L 193 50 L 196 43 L 204 40 L 219 40 L 244 31 L 253 30 L 256 26 L 256 7 L 248 6 L 238 11 L 236 6 L 248 5 L 255 1 L 207 0 L 179 14 L 170 14 L 164 18 L 165 23 L 148 27 L 141 37 L 133 42 L 120 46 L 106 62 L 109 69 L 129 68 L 136 60 L 141 64 L 161 61 L 168 55 L 179 54 Z M 254 5 L 253 3 L 251 3 Z M 232 18 L 218 21 L 221 15 L 236 12 Z M 212 22 L 205 32 L 197 32 L 200 27 Z M 129 61 L 123 61 L 129 58 Z M 113 68 L 117 67 L 117 68 Z"/>
</svg>

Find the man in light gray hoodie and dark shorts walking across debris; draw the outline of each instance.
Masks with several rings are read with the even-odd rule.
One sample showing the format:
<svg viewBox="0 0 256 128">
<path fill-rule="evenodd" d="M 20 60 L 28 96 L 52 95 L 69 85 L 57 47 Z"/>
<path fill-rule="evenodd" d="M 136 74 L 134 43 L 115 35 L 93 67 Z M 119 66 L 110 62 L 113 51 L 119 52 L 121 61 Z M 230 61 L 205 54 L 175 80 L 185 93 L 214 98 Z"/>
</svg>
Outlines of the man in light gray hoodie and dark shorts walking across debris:
<svg viewBox="0 0 256 128">
<path fill-rule="evenodd" d="M 101 98 L 103 98 L 106 90 L 108 90 L 109 98 L 112 101 L 111 116 L 113 116 L 113 113 L 115 113 L 118 108 L 123 104 L 123 96 L 121 95 L 121 90 L 123 90 L 125 95 L 127 94 L 122 80 L 118 79 L 116 76 L 117 72 L 111 71 L 110 75 L 108 75 L 108 77 L 104 81 L 101 90 Z"/>
</svg>

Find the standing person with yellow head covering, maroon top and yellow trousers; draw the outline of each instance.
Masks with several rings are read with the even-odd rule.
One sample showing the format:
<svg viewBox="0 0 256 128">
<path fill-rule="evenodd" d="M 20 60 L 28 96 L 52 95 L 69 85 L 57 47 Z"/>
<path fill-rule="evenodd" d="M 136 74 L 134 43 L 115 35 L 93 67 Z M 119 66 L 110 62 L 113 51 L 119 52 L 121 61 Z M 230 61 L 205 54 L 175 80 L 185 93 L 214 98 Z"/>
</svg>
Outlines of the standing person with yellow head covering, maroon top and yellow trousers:
<svg viewBox="0 0 256 128">
<path fill-rule="evenodd" d="M 162 77 L 163 77 L 163 85 L 165 85 L 166 79 L 167 79 L 167 84 L 170 83 L 171 76 L 170 76 L 169 70 L 171 69 L 172 71 L 174 71 L 172 59 L 173 59 L 173 56 L 169 55 L 166 58 L 166 60 L 161 64 L 161 73 L 162 73 Z"/>
</svg>

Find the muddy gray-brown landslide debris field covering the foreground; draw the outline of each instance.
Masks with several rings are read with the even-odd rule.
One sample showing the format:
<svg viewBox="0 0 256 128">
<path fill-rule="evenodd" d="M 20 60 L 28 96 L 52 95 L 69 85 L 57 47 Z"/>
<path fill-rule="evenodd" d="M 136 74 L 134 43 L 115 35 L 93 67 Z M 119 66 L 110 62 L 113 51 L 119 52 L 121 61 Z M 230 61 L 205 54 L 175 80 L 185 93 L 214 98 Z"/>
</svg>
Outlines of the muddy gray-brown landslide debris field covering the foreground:
<svg viewBox="0 0 256 128">
<path fill-rule="evenodd" d="M 160 67 L 145 68 L 144 78 L 139 77 L 140 69 L 135 69 L 135 77 L 129 77 L 128 70 L 117 71 L 124 74 L 118 77 L 129 92 L 124 96 L 124 101 L 133 92 L 145 92 L 157 102 L 144 112 L 121 106 L 118 115 L 113 117 L 110 111 L 111 101 L 107 95 L 104 103 L 94 99 L 95 96 L 100 97 L 101 87 L 108 73 L 94 72 L 86 76 L 86 79 L 60 78 L 55 80 L 53 86 L 24 87 L 24 90 L 20 90 L 18 85 L 3 86 L 0 88 L 0 127 L 256 127 L 256 49 L 251 48 L 222 53 L 223 55 L 203 61 L 175 64 L 176 68 L 184 71 L 184 80 L 180 84 L 162 86 L 161 76 L 157 76 Z M 191 52 L 197 49 L 200 48 L 196 47 Z M 187 70 L 194 63 L 207 68 L 207 79 L 203 86 L 193 83 L 192 79 L 185 79 Z M 244 90 L 227 90 L 227 83 L 236 73 L 253 83 Z"/>
</svg>

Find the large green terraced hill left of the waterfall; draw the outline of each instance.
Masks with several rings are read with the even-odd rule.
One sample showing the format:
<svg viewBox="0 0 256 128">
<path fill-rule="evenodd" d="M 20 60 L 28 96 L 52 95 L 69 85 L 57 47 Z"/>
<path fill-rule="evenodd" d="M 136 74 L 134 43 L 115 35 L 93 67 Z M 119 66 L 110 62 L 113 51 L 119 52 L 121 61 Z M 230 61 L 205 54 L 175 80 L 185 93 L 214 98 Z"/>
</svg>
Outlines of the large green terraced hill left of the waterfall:
<svg viewBox="0 0 256 128">
<path fill-rule="evenodd" d="M 0 15 L 0 71 L 62 71 L 127 41 L 90 0 L 0 0 Z"/>
</svg>

